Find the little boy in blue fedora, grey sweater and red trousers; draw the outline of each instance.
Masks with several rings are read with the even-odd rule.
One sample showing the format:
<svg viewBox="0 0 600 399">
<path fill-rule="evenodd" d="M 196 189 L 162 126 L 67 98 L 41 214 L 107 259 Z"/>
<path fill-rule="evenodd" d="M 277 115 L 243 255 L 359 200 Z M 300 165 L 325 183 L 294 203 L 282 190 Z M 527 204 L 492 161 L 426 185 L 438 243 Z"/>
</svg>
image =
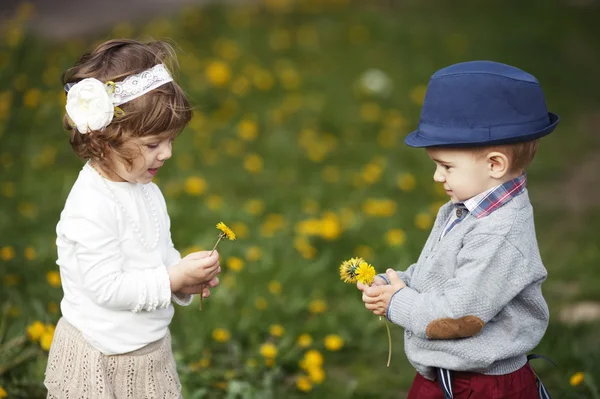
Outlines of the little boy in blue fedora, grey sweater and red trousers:
<svg viewBox="0 0 600 399">
<path fill-rule="evenodd" d="M 549 314 L 525 169 L 558 121 L 518 68 L 474 61 L 431 77 L 405 142 L 426 148 L 451 201 L 417 263 L 359 285 L 367 309 L 405 329 L 409 399 L 549 398 L 527 357 Z"/>
</svg>

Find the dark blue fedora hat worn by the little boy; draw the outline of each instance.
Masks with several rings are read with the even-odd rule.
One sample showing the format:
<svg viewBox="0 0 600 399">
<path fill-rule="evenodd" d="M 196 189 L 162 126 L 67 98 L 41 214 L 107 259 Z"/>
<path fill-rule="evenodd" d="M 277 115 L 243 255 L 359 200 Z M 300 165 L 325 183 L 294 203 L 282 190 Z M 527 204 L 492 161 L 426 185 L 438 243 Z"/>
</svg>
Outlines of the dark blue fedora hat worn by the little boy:
<svg viewBox="0 0 600 399">
<path fill-rule="evenodd" d="M 471 61 L 431 76 L 411 147 L 509 144 L 545 136 L 558 125 L 533 76 L 510 65 Z"/>
</svg>

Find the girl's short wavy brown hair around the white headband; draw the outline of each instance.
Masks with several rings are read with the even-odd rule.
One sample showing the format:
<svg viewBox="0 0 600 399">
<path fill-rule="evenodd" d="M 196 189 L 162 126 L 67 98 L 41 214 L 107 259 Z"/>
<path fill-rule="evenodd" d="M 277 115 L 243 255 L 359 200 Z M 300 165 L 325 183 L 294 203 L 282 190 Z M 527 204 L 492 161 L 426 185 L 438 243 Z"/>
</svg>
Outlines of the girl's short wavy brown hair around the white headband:
<svg viewBox="0 0 600 399">
<path fill-rule="evenodd" d="M 142 43 L 130 39 L 109 40 L 84 54 L 77 64 L 65 71 L 63 85 L 85 78 L 101 82 L 118 82 L 129 75 L 140 73 L 156 64 L 165 64 L 171 74 L 177 59 L 173 48 L 160 41 Z M 72 130 L 71 146 L 82 159 L 93 159 L 107 165 L 107 149 L 113 151 L 130 166 L 139 154 L 139 148 L 129 144 L 132 138 L 157 136 L 174 138 L 192 118 L 192 111 L 183 90 L 174 81 L 120 105 L 124 115 L 115 117 L 101 131 L 80 134 L 65 115 L 63 126 Z"/>
</svg>

